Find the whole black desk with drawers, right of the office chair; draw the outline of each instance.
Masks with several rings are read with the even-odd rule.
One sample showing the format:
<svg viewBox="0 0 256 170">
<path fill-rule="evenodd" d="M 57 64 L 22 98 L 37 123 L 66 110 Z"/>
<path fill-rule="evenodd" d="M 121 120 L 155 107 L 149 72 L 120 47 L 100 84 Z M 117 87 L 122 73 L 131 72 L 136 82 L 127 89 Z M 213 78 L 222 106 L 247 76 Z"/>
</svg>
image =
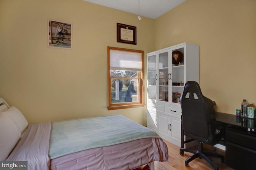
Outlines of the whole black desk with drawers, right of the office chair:
<svg viewBox="0 0 256 170">
<path fill-rule="evenodd" d="M 214 121 L 224 130 L 226 165 L 235 170 L 255 170 L 256 119 L 217 112 Z"/>
</svg>

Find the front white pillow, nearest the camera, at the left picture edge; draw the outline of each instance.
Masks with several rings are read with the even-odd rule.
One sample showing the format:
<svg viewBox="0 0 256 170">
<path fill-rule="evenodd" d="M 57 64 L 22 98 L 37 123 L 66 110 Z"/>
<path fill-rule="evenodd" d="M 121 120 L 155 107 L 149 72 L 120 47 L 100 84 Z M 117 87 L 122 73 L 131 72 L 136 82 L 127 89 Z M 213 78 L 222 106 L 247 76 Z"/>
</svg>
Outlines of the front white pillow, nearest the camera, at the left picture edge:
<svg viewBox="0 0 256 170">
<path fill-rule="evenodd" d="M 0 113 L 0 161 L 6 160 L 19 139 L 20 131 L 14 122 Z"/>
</svg>

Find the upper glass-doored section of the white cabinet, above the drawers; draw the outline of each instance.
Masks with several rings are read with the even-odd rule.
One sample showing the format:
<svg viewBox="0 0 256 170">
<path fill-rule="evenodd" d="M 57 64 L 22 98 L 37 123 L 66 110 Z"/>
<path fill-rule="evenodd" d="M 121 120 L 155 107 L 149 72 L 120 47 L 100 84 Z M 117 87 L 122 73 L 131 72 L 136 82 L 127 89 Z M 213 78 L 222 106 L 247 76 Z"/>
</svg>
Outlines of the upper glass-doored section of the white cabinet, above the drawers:
<svg viewBox="0 0 256 170">
<path fill-rule="evenodd" d="M 148 53 L 148 99 L 179 107 L 186 81 L 199 81 L 198 56 L 198 45 L 190 43 Z"/>
</svg>

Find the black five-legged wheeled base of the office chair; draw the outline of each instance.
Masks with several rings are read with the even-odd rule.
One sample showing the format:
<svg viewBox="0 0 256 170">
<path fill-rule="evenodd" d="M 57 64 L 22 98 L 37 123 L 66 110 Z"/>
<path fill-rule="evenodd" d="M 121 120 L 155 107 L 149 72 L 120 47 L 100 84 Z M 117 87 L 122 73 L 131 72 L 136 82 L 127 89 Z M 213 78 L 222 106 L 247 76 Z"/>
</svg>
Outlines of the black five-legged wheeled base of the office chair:
<svg viewBox="0 0 256 170">
<path fill-rule="evenodd" d="M 210 163 L 210 165 L 214 168 L 214 170 L 218 170 L 219 169 L 218 166 L 210 158 L 208 158 L 208 156 L 220 158 L 221 163 L 224 163 L 224 156 L 220 154 L 216 154 L 214 152 L 204 152 L 203 142 L 199 142 L 198 150 L 180 148 L 180 155 L 183 155 L 184 152 L 190 152 L 194 154 L 185 160 L 185 166 L 188 166 L 188 163 L 196 158 L 200 158 L 200 159 L 204 158 L 208 163 Z"/>
</svg>

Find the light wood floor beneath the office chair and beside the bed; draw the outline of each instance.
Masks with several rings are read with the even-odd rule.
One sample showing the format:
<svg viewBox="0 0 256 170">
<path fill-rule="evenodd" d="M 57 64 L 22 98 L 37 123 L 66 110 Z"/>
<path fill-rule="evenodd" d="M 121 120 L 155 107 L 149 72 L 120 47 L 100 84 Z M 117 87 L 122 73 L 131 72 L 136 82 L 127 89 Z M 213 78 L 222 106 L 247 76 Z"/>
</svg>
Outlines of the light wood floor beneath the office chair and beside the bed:
<svg viewBox="0 0 256 170">
<path fill-rule="evenodd" d="M 166 145 L 168 146 L 168 154 L 169 154 L 169 160 L 168 162 L 157 162 L 155 161 L 155 170 L 213 170 L 212 166 L 206 162 L 204 159 L 196 158 L 192 162 L 189 162 L 189 166 L 185 166 L 185 160 L 189 156 L 192 155 L 192 153 L 184 152 L 184 155 L 180 155 L 180 147 L 176 146 L 166 140 L 164 140 Z M 193 148 L 197 149 L 197 148 Z M 208 148 L 210 150 L 213 150 L 213 148 Z M 204 148 L 204 150 L 207 150 Z M 220 154 L 224 154 L 224 152 L 221 152 L 220 150 L 217 150 L 216 152 Z M 217 164 L 219 167 L 219 170 L 233 170 L 232 168 L 229 168 L 224 163 L 220 162 L 220 158 L 214 158 L 210 157 L 210 159 Z M 140 169 L 136 170 L 148 170 L 148 166 L 142 166 Z"/>
</svg>

